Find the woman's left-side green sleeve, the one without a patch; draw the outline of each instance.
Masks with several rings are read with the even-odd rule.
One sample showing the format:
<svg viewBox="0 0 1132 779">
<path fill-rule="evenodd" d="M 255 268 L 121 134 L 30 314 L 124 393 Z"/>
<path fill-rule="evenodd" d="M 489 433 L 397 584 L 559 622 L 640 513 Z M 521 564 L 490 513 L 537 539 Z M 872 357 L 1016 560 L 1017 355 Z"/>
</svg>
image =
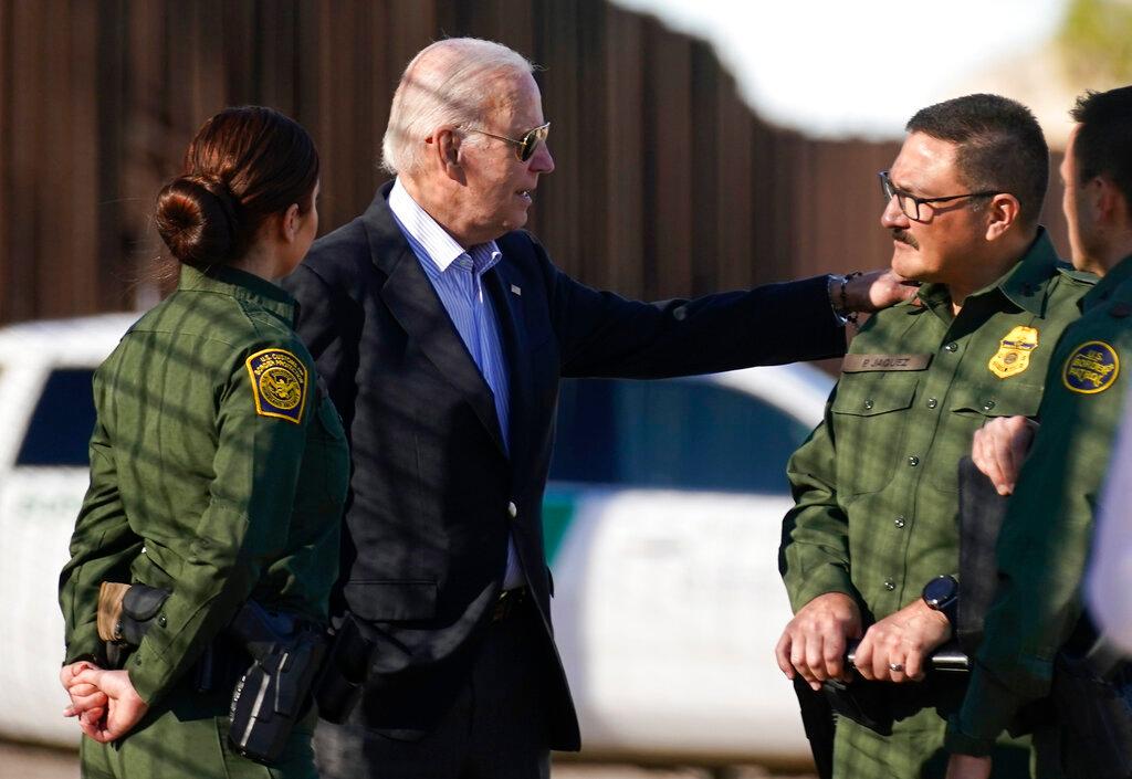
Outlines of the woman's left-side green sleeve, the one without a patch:
<svg viewBox="0 0 1132 779">
<path fill-rule="evenodd" d="M 104 662 L 98 637 L 98 588 L 104 581 L 129 582 L 130 562 L 142 539 L 129 527 L 121 495 L 114 452 L 102 422 L 91 437 L 91 486 L 83 500 L 70 560 L 59 576 L 59 606 L 63 613 L 67 649 L 63 664 L 79 659 Z"/>
</svg>

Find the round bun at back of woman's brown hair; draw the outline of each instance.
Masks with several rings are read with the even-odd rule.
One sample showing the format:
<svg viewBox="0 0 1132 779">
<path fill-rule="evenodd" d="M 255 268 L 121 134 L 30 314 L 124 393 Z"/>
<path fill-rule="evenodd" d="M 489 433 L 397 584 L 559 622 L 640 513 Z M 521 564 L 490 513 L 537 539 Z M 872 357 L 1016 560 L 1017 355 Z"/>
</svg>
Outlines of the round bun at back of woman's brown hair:
<svg viewBox="0 0 1132 779">
<path fill-rule="evenodd" d="M 237 254 L 238 203 L 220 179 L 181 177 L 157 195 L 157 232 L 179 260 L 223 263 Z"/>
</svg>

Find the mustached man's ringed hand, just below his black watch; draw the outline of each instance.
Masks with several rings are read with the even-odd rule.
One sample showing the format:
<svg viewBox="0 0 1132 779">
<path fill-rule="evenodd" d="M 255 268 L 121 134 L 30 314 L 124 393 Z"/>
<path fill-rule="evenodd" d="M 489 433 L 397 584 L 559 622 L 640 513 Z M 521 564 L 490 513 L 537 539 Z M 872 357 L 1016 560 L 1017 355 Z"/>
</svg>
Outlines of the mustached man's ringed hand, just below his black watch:
<svg viewBox="0 0 1132 779">
<path fill-rule="evenodd" d="M 943 613 L 917 598 L 865 632 L 854 665 L 866 679 L 918 682 L 927 657 L 950 637 L 951 623 Z"/>
</svg>

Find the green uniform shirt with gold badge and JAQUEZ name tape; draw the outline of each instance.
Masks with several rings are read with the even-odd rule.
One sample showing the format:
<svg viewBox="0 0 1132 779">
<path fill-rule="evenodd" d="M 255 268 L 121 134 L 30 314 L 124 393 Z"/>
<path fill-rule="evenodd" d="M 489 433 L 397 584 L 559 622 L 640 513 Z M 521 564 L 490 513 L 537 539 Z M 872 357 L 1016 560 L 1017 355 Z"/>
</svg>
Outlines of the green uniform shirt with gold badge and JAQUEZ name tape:
<svg viewBox="0 0 1132 779">
<path fill-rule="evenodd" d="M 824 422 L 791 457 L 782 574 L 795 611 L 826 592 L 866 624 L 959 570 L 958 463 L 987 417 L 1034 416 L 1062 329 L 1089 289 L 1041 231 L 952 316 L 945 286 L 869 319 Z"/>
</svg>

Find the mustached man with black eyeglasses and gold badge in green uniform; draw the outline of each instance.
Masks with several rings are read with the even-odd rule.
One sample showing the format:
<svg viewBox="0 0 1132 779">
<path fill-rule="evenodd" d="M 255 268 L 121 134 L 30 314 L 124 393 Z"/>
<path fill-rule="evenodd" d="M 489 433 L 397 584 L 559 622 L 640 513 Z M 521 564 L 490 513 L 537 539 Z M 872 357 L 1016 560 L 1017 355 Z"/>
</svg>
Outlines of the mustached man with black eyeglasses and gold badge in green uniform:
<svg viewBox="0 0 1132 779">
<path fill-rule="evenodd" d="M 907 130 L 880 174 L 881 224 L 892 268 L 923 285 L 852 341 L 824 421 L 790 461 L 780 557 L 795 610 L 775 650 L 783 673 L 815 690 L 849 680 L 846 644 L 861 639 L 867 682 L 855 684 L 881 716 L 838 718 L 833 776 L 854 779 L 944 773 L 964 677 L 925 674 L 925 660 L 962 599 L 958 462 L 988 419 L 1037 412 L 1091 285 L 1038 224 L 1049 156 L 1026 106 L 968 95 Z M 996 776 L 1029 776 L 1023 747 L 1001 750 Z"/>
</svg>

